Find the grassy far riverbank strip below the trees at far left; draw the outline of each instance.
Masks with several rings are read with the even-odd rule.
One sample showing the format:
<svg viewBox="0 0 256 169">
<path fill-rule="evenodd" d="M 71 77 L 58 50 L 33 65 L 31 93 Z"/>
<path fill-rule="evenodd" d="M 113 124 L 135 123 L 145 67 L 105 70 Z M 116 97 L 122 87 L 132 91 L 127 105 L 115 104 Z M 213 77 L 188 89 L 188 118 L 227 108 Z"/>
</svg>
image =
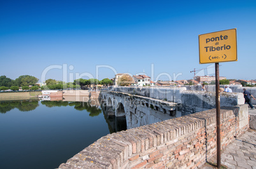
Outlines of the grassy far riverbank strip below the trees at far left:
<svg viewBox="0 0 256 169">
<path fill-rule="evenodd" d="M 41 91 L 27 91 L 27 92 L 6 92 L 0 93 L 0 100 L 20 100 L 36 98 L 37 95 L 42 95 Z"/>
</svg>

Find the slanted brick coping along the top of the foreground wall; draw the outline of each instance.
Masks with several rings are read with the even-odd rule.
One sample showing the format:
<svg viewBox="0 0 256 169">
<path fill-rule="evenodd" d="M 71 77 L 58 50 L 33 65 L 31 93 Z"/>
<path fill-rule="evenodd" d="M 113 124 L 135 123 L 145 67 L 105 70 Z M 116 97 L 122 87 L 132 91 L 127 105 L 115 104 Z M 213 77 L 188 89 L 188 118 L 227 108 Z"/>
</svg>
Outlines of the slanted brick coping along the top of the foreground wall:
<svg viewBox="0 0 256 169">
<path fill-rule="evenodd" d="M 221 120 L 237 116 L 241 106 L 244 105 L 223 107 Z M 216 109 L 211 109 L 108 134 L 76 154 L 67 163 L 60 165 L 59 168 L 73 168 L 74 166 L 119 168 L 125 161 L 138 153 L 179 139 L 181 136 L 195 132 L 204 126 L 214 124 L 215 118 Z"/>
</svg>

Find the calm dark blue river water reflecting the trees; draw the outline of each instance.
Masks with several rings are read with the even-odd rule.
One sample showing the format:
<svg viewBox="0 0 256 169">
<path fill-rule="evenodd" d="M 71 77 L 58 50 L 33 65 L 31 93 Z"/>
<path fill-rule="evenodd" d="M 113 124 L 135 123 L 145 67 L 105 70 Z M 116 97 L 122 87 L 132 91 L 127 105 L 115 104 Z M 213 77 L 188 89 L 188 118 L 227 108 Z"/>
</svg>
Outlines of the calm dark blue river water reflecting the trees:
<svg viewBox="0 0 256 169">
<path fill-rule="evenodd" d="M 106 121 L 87 102 L 0 101 L 0 168 L 57 168 L 113 132 Z"/>
</svg>

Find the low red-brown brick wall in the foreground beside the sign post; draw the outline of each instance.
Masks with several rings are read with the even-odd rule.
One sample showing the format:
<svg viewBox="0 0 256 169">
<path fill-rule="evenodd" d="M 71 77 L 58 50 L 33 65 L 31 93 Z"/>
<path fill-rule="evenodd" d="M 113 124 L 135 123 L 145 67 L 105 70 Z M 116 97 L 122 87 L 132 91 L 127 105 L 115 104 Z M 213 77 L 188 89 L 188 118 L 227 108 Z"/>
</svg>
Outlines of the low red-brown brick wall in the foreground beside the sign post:
<svg viewBox="0 0 256 169">
<path fill-rule="evenodd" d="M 196 168 L 216 153 L 216 110 L 112 133 L 59 168 Z M 248 106 L 222 107 L 222 148 L 248 129 Z"/>
</svg>

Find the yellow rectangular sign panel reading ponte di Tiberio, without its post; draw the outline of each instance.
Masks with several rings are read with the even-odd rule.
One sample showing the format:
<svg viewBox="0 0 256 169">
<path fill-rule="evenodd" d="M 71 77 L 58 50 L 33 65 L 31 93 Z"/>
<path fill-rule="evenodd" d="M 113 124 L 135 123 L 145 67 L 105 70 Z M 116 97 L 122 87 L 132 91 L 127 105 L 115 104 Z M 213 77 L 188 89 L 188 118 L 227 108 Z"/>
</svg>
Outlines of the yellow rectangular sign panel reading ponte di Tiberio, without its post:
<svg viewBox="0 0 256 169">
<path fill-rule="evenodd" d="M 199 63 L 238 61 L 236 29 L 199 35 Z"/>
</svg>

